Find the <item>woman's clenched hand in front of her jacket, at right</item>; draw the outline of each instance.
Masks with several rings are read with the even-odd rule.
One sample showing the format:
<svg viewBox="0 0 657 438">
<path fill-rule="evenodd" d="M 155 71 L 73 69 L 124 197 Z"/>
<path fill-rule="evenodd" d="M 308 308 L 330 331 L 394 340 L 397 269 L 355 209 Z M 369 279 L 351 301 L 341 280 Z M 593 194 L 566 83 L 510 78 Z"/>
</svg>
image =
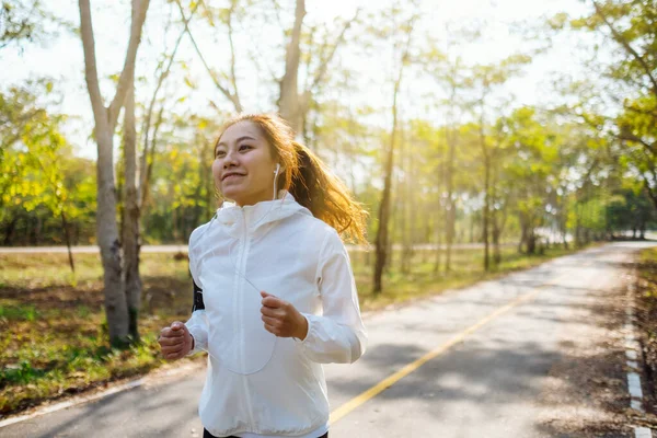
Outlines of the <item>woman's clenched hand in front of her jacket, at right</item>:
<svg viewBox="0 0 657 438">
<path fill-rule="evenodd" d="M 308 321 L 289 302 L 281 300 L 265 291 L 261 292 L 263 297 L 263 322 L 265 330 L 278 337 L 297 337 L 306 339 L 308 334 Z"/>
</svg>

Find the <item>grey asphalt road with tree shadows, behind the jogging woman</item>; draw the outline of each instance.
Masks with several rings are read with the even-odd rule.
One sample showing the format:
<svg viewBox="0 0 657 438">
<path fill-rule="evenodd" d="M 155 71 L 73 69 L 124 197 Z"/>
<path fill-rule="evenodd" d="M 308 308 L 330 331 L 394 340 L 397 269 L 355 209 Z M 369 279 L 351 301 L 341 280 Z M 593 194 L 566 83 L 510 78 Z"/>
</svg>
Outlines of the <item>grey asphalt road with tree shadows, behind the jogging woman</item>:
<svg viewBox="0 0 657 438">
<path fill-rule="evenodd" d="M 351 366 L 325 366 L 332 408 L 341 416 L 330 436 L 550 436 L 541 422 L 551 406 L 541 392 L 550 369 L 565 358 L 563 343 L 586 333 L 600 293 L 622 289 L 623 263 L 653 244 L 608 244 L 365 315 L 366 355 Z M 417 366 L 431 351 L 435 357 Z M 413 362 L 416 369 L 388 389 L 344 410 Z M 203 381 L 203 367 L 150 379 L 129 391 L 2 427 L 0 437 L 199 437 Z"/>
</svg>

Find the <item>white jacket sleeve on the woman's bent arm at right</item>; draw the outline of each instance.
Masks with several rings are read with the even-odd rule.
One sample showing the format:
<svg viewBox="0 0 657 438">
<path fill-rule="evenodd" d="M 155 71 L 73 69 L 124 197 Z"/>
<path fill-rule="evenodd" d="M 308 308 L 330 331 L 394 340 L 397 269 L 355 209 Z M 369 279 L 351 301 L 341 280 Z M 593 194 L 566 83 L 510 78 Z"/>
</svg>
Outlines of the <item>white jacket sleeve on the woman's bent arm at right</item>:
<svg viewBox="0 0 657 438">
<path fill-rule="evenodd" d="M 308 320 L 308 334 L 303 341 L 293 339 L 315 362 L 353 364 L 367 348 L 367 332 L 349 255 L 335 230 L 320 250 L 316 280 L 323 314 L 302 313 Z"/>
</svg>

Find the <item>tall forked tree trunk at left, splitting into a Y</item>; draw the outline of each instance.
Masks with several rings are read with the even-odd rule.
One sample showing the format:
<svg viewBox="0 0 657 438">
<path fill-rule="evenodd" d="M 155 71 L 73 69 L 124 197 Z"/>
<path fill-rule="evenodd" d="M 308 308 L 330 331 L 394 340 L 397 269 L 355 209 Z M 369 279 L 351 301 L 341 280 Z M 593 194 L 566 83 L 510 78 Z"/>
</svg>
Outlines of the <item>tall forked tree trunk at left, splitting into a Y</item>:
<svg viewBox="0 0 657 438">
<path fill-rule="evenodd" d="M 116 187 L 114 182 L 114 129 L 126 95 L 132 87 L 135 59 L 141 41 L 149 0 L 131 1 L 130 36 L 124 67 L 116 92 L 108 106 L 105 106 L 99 82 L 95 56 L 95 38 L 89 0 L 79 0 L 80 36 L 84 49 L 84 79 L 94 117 L 94 137 L 97 145 L 97 214 L 96 235 L 103 262 L 105 313 L 113 345 L 124 345 L 129 341 L 129 313 L 122 275 L 122 245 L 116 222 Z"/>
</svg>

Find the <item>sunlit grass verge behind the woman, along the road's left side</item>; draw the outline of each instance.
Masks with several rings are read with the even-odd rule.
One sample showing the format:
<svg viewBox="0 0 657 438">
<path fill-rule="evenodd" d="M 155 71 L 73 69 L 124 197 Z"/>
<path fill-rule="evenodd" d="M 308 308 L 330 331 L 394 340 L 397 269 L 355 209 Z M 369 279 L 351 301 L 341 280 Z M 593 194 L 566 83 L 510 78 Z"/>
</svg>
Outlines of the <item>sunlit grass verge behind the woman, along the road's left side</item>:
<svg viewBox="0 0 657 438">
<path fill-rule="evenodd" d="M 434 274 L 435 252 L 415 253 L 407 272 L 400 269 L 402 254 L 395 252 L 384 291 L 378 296 L 371 291 L 374 254 L 353 253 L 351 265 L 360 306 L 367 311 L 464 287 L 569 252 L 550 249 L 540 256 L 526 256 L 505 247 L 503 263 L 484 273 L 481 250 L 457 250 L 449 275 Z M 142 343 L 126 350 L 111 349 L 99 255 L 77 254 L 74 275 L 66 254 L 0 254 L 0 415 L 162 366 L 159 332 L 172 321 L 185 321 L 192 307 L 187 261 L 174 254 L 142 254 Z"/>
</svg>

